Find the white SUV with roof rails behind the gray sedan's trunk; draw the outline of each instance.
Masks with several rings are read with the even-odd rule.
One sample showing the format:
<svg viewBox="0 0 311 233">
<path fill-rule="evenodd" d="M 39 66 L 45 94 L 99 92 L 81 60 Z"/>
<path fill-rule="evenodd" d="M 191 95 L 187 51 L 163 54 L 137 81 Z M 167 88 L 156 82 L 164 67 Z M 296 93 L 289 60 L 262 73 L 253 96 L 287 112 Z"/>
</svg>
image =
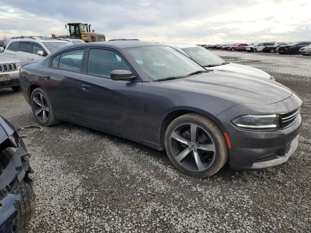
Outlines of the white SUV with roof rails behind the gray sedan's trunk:
<svg viewBox="0 0 311 233">
<path fill-rule="evenodd" d="M 69 41 L 43 36 L 13 37 L 4 53 L 18 58 L 22 62 L 41 60 L 43 57 L 60 48 L 73 45 Z"/>
</svg>

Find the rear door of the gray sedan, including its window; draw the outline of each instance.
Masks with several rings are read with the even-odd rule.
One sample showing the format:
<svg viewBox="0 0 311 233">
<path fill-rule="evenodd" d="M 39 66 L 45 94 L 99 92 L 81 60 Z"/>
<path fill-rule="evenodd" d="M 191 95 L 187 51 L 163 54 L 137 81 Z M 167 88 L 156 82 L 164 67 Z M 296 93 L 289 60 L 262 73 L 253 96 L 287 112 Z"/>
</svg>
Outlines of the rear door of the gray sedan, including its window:
<svg viewBox="0 0 311 233">
<path fill-rule="evenodd" d="M 55 54 L 42 71 L 42 85 L 55 114 L 78 121 L 84 118 L 79 86 L 84 51 L 77 48 Z"/>
</svg>

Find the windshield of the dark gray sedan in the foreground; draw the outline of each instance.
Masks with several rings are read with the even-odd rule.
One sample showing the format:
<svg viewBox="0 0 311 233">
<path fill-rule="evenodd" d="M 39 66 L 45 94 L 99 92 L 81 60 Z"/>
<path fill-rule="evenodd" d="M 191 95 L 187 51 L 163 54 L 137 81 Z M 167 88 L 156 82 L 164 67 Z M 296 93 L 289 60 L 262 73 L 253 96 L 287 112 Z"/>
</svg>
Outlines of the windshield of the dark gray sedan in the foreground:
<svg viewBox="0 0 311 233">
<path fill-rule="evenodd" d="M 204 70 L 189 57 L 166 46 L 129 48 L 127 52 L 153 81 L 169 77 L 185 77 L 198 70 Z"/>
</svg>

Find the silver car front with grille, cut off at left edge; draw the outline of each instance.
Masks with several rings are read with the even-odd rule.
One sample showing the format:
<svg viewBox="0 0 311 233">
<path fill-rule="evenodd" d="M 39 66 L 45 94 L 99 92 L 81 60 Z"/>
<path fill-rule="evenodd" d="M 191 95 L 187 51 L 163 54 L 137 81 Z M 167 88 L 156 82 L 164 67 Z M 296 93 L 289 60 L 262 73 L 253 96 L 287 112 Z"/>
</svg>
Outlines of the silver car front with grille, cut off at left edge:
<svg viewBox="0 0 311 233">
<path fill-rule="evenodd" d="M 0 53 L 0 88 L 11 87 L 19 91 L 20 60 Z"/>
</svg>

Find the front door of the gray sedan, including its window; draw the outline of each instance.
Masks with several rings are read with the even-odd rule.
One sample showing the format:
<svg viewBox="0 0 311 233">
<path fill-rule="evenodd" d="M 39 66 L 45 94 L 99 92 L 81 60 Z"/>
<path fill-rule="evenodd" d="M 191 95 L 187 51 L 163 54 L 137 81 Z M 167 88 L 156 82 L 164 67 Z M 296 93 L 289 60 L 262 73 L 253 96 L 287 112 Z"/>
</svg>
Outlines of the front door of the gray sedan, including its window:
<svg viewBox="0 0 311 233">
<path fill-rule="evenodd" d="M 89 50 L 80 82 L 85 122 L 141 138 L 142 82 L 111 80 L 110 72 L 116 69 L 132 71 L 116 51 Z"/>
</svg>

